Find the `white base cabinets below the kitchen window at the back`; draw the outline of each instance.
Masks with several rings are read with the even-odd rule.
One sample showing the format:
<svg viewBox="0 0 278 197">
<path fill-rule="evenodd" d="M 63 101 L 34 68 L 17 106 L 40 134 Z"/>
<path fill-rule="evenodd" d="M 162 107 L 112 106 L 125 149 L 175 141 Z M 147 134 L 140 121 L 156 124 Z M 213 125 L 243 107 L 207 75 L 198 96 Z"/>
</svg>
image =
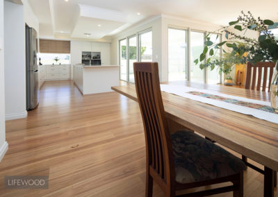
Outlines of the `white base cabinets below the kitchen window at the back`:
<svg viewBox="0 0 278 197">
<path fill-rule="evenodd" d="M 45 80 L 68 80 L 70 79 L 70 65 L 45 65 Z"/>
</svg>

